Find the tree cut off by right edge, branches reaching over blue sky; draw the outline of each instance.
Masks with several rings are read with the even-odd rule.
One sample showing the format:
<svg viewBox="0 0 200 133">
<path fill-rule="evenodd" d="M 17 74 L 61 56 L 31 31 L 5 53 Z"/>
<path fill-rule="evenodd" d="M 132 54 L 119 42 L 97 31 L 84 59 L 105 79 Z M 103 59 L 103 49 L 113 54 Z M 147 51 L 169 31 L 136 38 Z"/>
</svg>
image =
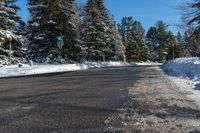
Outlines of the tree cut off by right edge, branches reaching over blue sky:
<svg viewBox="0 0 200 133">
<path fill-rule="evenodd" d="M 199 56 L 200 54 L 200 0 L 185 2 L 182 21 L 187 33 L 187 55 Z"/>
</svg>

